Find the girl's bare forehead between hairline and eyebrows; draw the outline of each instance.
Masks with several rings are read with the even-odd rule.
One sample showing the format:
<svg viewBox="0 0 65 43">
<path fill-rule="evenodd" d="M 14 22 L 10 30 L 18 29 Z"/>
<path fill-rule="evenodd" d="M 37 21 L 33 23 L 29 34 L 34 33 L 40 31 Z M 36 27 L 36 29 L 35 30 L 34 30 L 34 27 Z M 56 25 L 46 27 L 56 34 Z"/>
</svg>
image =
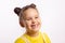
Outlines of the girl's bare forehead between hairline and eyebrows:
<svg viewBox="0 0 65 43">
<path fill-rule="evenodd" d="M 24 17 L 32 17 L 37 15 L 38 15 L 38 11 L 36 9 L 28 9 L 24 11 Z"/>
</svg>

